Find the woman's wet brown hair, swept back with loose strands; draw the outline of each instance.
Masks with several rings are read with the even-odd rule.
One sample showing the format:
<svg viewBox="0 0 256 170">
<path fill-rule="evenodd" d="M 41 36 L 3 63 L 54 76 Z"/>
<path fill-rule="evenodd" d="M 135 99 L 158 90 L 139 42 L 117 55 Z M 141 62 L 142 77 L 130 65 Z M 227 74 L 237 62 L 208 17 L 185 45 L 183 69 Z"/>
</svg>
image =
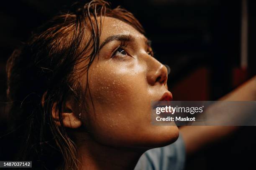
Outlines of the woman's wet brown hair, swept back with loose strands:
<svg viewBox="0 0 256 170">
<path fill-rule="evenodd" d="M 99 52 L 104 16 L 122 20 L 144 34 L 133 14 L 121 7 L 111 9 L 102 0 L 77 2 L 39 27 L 8 59 L 9 117 L 21 141 L 16 160 L 32 160 L 33 168 L 78 169 L 72 133 L 62 121 L 56 125 L 51 112 L 56 103 L 61 120 L 68 98 L 77 106 L 92 102 L 84 98 L 90 92 L 88 81 L 82 86 L 79 75 L 88 74 Z M 78 67 L 84 60 L 88 64 Z"/>
</svg>

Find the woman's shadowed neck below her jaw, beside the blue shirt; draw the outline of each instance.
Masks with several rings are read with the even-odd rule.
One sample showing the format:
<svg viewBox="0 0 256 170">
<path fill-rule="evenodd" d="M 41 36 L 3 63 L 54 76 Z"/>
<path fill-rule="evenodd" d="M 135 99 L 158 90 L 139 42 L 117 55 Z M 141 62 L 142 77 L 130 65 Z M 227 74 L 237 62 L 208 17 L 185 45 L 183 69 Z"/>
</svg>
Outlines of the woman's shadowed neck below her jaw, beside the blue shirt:
<svg viewBox="0 0 256 170">
<path fill-rule="evenodd" d="M 81 170 L 133 170 L 145 149 L 115 148 L 92 140 L 89 136 L 77 143 Z"/>
</svg>

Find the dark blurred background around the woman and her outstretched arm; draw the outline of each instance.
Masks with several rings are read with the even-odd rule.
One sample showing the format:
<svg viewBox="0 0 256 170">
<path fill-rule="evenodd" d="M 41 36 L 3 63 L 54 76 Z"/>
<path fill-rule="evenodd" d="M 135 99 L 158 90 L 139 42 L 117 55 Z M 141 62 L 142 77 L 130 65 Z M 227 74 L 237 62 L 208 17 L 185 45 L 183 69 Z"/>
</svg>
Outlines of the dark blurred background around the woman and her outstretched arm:
<svg viewBox="0 0 256 170">
<path fill-rule="evenodd" d="M 171 67 L 174 100 L 217 100 L 256 74 L 256 1 L 247 0 L 248 67 L 241 68 L 243 0 L 118 0 L 152 40 L 156 58 Z M 4 2 L 4 3 L 3 3 Z M 5 101 L 5 63 L 31 31 L 71 0 L 17 0 L 0 5 L 0 102 Z M 6 115 L 0 104 L 0 128 Z M 187 170 L 256 169 L 255 127 L 241 127 L 187 158 Z M 1 140 L 1 138 L 0 138 Z M 1 144 L 5 146 L 5 143 Z M 0 158 L 4 160 L 5 156 Z M 6 149 L 6 148 L 5 148 Z M 11 148 L 10 148 L 11 149 Z"/>
</svg>

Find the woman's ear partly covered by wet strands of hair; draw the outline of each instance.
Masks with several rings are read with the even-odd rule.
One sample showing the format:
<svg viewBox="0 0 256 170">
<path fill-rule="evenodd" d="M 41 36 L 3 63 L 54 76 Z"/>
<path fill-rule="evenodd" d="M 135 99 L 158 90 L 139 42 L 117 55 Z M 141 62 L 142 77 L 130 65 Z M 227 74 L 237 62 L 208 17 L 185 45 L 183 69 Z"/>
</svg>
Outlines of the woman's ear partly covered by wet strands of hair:
<svg viewBox="0 0 256 170">
<path fill-rule="evenodd" d="M 74 109 L 70 102 L 66 102 L 65 105 L 62 106 L 62 122 L 64 127 L 67 128 L 79 128 L 82 125 L 81 120 L 74 114 Z M 56 102 L 54 103 L 51 111 L 52 117 L 58 126 L 61 126 L 61 120 L 59 119 L 59 112 L 56 111 Z"/>
</svg>

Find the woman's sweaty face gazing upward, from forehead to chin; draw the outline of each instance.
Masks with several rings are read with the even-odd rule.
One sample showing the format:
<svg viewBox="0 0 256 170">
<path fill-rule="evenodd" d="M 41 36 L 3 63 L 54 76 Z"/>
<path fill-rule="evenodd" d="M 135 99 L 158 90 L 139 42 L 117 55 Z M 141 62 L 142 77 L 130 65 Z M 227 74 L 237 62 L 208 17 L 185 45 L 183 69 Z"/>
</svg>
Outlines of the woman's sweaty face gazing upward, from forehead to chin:
<svg viewBox="0 0 256 170">
<path fill-rule="evenodd" d="M 91 102 L 82 124 L 97 142 L 119 147 L 154 148 L 174 142 L 177 126 L 151 124 L 151 102 L 167 90 L 167 69 L 149 55 L 144 35 L 118 19 L 105 17 L 100 53 L 88 71 Z M 87 74 L 82 77 L 86 85 Z M 86 99 L 91 100 L 87 91 Z"/>
</svg>

